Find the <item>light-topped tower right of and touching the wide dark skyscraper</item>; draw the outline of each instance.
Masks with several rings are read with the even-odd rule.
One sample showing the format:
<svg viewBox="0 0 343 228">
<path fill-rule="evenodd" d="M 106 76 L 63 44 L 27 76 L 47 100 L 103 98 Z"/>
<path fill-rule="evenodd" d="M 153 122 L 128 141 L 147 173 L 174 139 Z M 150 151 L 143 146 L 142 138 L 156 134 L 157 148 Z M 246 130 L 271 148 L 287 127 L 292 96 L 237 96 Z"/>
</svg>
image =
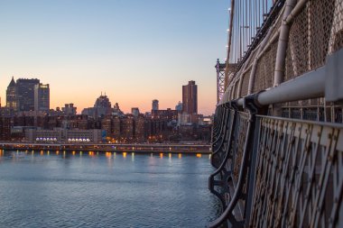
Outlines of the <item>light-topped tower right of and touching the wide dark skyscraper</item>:
<svg viewBox="0 0 343 228">
<path fill-rule="evenodd" d="M 49 84 L 42 83 L 34 86 L 34 111 L 48 112 L 50 110 Z"/>
</svg>

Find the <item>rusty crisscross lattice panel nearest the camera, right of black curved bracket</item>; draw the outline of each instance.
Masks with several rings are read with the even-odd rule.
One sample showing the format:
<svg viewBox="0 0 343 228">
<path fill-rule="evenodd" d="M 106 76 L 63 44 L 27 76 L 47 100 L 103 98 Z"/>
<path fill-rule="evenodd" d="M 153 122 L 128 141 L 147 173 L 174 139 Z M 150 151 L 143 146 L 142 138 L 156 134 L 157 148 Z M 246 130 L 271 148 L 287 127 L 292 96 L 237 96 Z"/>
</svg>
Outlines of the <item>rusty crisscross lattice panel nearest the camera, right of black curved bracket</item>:
<svg viewBox="0 0 343 228">
<path fill-rule="evenodd" d="M 252 227 L 337 226 L 341 126 L 261 116 Z"/>
</svg>

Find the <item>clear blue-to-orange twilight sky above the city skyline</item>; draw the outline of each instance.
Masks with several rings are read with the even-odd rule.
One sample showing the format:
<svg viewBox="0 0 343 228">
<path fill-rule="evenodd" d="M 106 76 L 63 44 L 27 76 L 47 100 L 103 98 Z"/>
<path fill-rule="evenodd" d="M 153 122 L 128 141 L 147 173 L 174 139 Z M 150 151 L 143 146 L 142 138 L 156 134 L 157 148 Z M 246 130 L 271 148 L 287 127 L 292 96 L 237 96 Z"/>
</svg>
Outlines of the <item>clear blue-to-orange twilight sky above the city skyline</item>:
<svg viewBox="0 0 343 228">
<path fill-rule="evenodd" d="M 174 109 L 198 85 L 200 114 L 216 105 L 226 56 L 228 0 L 0 0 L 0 96 L 12 76 L 51 87 L 51 108 L 78 113 L 107 94 L 119 103 Z"/>
</svg>

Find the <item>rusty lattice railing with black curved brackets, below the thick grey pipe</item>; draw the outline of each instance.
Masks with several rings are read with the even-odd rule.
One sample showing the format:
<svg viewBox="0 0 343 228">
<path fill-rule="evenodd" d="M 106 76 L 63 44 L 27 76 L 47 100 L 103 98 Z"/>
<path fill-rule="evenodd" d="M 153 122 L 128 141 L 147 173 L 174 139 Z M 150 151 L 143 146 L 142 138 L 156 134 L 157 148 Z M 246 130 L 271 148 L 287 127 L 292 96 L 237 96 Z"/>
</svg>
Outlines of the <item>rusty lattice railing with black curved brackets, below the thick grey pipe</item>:
<svg viewBox="0 0 343 228">
<path fill-rule="evenodd" d="M 223 214 L 209 227 L 340 227 L 343 124 L 229 113 L 224 158 L 209 177 Z"/>
</svg>

